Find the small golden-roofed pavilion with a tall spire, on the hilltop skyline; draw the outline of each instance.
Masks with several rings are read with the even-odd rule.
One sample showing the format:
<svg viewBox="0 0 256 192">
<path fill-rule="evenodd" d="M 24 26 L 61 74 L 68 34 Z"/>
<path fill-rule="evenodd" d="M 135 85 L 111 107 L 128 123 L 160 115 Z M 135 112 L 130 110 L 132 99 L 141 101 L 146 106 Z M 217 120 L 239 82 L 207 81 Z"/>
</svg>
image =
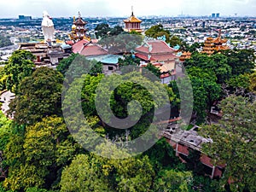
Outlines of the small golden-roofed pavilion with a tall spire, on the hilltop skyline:
<svg viewBox="0 0 256 192">
<path fill-rule="evenodd" d="M 124 29 L 125 32 L 131 32 L 131 31 L 143 32 L 143 30 L 141 29 L 141 23 L 143 22 L 143 20 L 137 19 L 137 17 L 133 15 L 133 10 L 131 11 L 131 16 L 126 20 L 124 20 L 124 22 L 125 22 L 125 29 Z"/>
</svg>

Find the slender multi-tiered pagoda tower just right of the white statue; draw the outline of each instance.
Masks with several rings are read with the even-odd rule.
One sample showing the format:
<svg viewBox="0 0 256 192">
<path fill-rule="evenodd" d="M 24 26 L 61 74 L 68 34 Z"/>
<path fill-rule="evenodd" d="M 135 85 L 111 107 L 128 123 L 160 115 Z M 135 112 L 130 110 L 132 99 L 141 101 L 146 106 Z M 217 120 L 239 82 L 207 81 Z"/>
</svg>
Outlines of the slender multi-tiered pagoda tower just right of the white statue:
<svg viewBox="0 0 256 192">
<path fill-rule="evenodd" d="M 85 34 L 85 32 L 87 31 L 87 29 L 85 28 L 86 24 L 87 22 L 82 19 L 80 13 L 77 19 L 73 17 L 73 26 L 72 26 L 72 31 L 69 34 L 69 38 L 74 41 L 88 39 L 89 37 L 86 37 L 86 34 Z"/>
</svg>

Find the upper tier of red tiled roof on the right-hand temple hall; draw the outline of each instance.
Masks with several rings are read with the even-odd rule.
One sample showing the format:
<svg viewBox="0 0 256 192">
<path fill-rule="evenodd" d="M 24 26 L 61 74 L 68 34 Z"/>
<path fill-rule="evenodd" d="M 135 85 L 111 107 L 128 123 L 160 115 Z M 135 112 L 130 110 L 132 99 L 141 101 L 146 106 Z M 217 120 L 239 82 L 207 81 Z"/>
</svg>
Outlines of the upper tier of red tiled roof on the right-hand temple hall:
<svg viewBox="0 0 256 192">
<path fill-rule="evenodd" d="M 150 46 L 152 46 L 152 49 L 150 50 Z M 151 40 L 147 43 L 143 44 L 143 46 L 137 47 L 136 51 L 142 52 L 142 53 L 173 53 L 175 49 L 172 49 L 171 47 L 166 44 L 165 41 L 162 40 Z"/>
</svg>

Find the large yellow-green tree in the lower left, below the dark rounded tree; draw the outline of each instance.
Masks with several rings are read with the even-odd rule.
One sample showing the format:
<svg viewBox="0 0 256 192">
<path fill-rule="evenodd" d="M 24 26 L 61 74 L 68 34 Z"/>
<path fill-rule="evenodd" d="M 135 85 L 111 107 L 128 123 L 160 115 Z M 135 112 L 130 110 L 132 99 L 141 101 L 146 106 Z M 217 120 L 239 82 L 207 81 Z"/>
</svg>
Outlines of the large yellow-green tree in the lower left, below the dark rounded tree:
<svg viewBox="0 0 256 192">
<path fill-rule="evenodd" d="M 58 179 L 59 169 L 73 159 L 76 150 L 63 119 L 55 116 L 45 118 L 26 127 L 23 139 L 20 138 L 8 144 L 5 154 L 9 162 L 9 176 L 4 186 L 12 190 L 29 187 L 49 189 Z M 15 144 L 21 144 L 20 148 Z M 18 158 L 19 163 L 16 163 Z"/>
</svg>

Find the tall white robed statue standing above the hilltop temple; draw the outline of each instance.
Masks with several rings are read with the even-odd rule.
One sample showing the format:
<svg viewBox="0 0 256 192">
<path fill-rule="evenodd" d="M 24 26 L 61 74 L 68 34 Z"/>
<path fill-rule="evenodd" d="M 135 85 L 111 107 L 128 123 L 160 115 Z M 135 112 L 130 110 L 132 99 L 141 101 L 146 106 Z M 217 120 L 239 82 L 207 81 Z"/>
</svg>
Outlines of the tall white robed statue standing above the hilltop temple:
<svg viewBox="0 0 256 192">
<path fill-rule="evenodd" d="M 49 14 L 46 11 L 43 13 L 41 26 L 44 32 L 44 42 L 52 42 L 55 39 L 55 27 L 53 21 L 49 19 Z"/>
</svg>

